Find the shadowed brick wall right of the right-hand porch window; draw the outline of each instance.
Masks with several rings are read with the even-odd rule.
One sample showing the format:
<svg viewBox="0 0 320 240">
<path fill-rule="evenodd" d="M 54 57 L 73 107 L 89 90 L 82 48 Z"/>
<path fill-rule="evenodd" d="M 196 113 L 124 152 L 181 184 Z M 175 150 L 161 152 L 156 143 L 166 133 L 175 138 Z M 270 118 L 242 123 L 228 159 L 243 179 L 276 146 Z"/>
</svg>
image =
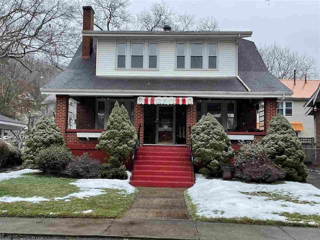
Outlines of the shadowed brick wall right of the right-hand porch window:
<svg viewBox="0 0 320 240">
<path fill-rule="evenodd" d="M 241 99 L 237 101 L 237 130 L 256 130 L 256 106 L 250 100 Z"/>
</svg>

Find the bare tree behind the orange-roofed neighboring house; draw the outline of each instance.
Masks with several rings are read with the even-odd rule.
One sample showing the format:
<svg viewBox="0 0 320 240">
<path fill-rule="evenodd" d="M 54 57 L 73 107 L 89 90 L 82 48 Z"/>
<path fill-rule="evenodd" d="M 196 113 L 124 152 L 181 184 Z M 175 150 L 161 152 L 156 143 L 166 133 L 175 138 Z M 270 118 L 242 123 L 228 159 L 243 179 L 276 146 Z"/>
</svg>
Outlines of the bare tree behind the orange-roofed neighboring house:
<svg viewBox="0 0 320 240">
<path fill-rule="evenodd" d="M 315 59 L 306 54 L 292 51 L 288 46 L 281 47 L 274 43 L 260 45 L 258 50 L 269 72 L 279 79 L 292 79 L 294 69 L 298 79 L 303 79 L 305 74 L 310 79 L 318 79 L 319 77 L 319 69 Z"/>
</svg>

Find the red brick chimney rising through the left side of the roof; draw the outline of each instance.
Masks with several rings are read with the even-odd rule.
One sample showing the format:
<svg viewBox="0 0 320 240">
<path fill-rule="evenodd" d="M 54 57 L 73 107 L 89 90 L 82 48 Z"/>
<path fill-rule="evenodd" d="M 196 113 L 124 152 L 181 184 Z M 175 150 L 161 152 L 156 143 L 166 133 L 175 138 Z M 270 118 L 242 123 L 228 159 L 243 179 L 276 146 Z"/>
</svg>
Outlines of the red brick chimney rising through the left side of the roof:
<svg viewBox="0 0 320 240">
<path fill-rule="evenodd" d="M 83 30 L 93 30 L 94 11 L 91 6 L 83 6 Z M 93 51 L 93 37 L 82 36 L 82 58 L 87 59 Z"/>
</svg>

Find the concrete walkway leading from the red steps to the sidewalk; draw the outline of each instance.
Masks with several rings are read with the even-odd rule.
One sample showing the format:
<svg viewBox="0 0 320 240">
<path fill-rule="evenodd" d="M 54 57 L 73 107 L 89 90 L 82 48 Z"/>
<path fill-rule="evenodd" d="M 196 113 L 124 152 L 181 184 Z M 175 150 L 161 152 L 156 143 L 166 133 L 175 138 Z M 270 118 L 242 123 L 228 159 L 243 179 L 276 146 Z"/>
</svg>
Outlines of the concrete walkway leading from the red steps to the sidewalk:
<svg viewBox="0 0 320 240">
<path fill-rule="evenodd" d="M 138 195 L 122 219 L 191 220 L 184 190 L 177 187 L 137 187 Z"/>
</svg>

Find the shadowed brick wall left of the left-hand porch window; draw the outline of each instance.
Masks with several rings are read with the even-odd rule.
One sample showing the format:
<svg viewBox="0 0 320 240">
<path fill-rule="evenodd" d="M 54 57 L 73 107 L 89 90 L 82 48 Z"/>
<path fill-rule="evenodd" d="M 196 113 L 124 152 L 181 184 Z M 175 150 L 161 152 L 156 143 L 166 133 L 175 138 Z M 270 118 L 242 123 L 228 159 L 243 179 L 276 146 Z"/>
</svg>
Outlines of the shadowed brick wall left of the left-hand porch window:
<svg viewBox="0 0 320 240">
<path fill-rule="evenodd" d="M 95 128 L 95 98 L 82 97 L 76 105 L 76 129 Z"/>
</svg>

